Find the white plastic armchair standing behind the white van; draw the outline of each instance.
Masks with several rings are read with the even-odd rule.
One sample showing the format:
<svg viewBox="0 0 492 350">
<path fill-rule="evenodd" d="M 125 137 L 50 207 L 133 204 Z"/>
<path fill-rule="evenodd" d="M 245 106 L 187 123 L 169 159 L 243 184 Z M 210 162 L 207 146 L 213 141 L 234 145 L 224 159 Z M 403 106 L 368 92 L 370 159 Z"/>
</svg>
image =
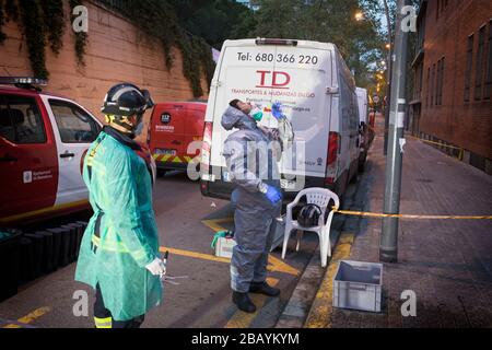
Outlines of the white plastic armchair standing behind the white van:
<svg viewBox="0 0 492 350">
<path fill-rule="evenodd" d="M 298 224 L 296 220 L 292 220 L 292 208 L 298 205 L 301 198 L 306 196 L 307 203 L 317 205 L 323 214 L 319 217 L 319 223 L 315 228 L 303 228 Z M 333 210 L 330 208 L 330 213 L 325 222 L 325 213 L 330 202 L 330 199 L 335 201 L 335 207 L 340 207 L 340 199 L 336 194 L 326 188 L 306 188 L 298 192 L 295 197 L 294 201 L 286 206 L 286 214 L 285 214 L 285 232 L 283 235 L 283 249 L 282 249 L 282 259 L 285 258 L 286 247 L 289 243 L 289 238 L 291 236 L 292 230 L 301 230 L 301 231 L 312 231 L 316 232 L 319 237 L 319 253 L 321 255 L 321 266 L 326 267 L 328 256 L 331 256 L 331 244 L 330 244 L 330 226 L 331 220 L 333 219 Z M 301 237 L 297 237 L 297 246 L 296 250 L 300 247 Z"/>
</svg>

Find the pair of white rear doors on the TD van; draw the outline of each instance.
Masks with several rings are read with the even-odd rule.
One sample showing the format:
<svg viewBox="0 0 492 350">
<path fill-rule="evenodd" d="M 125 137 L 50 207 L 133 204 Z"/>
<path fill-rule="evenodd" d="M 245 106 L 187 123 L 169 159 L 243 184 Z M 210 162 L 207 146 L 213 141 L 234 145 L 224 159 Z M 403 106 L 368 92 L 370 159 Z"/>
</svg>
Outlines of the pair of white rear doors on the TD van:
<svg viewBox="0 0 492 350">
<path fill-rule="evenodd" d="M 281 173 L 324 178 L 331 114 L 331 95 L 326 92 L 332 85 L 332 57 L 328 45 L 315 47 L 307 42 L 297 46 L 226 42 L 213 82 L 215 98 L 207 110 L 213 115 L 212 167 L 225 167 L 222 148 L 230 132 L 222 128 L 221 117 L 230 101 L 261 105 L 267 112 L 261 125 L 268 127 L 277 127 L 269 107 L 281 102 L 297 144 L 292 159 L 284 155 Z"/>
</svg>

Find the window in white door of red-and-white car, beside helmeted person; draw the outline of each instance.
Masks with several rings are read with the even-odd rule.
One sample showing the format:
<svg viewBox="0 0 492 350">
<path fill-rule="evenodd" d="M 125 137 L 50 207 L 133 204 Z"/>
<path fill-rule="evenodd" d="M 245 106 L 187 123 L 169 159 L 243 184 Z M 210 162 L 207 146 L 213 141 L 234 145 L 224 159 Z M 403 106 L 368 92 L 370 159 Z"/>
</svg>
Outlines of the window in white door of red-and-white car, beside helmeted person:
<svg viewBox="0 0 492 350">
<path fill-rule="evenodd" d="M 79 106 L 59 100 L 49 100 L 52 114 L 57 121 L 61 142 L 91 143 L 99 133 L 97 122 Z"/>
</svg>

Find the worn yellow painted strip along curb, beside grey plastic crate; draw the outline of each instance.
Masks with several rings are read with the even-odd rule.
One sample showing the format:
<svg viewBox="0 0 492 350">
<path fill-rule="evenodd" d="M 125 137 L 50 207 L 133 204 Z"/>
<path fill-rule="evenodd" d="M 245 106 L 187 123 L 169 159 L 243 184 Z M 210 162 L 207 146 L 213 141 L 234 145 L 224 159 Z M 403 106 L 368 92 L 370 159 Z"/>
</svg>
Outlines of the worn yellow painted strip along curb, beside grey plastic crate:
<svg viewBox="0 0 492 350">
<path fill-rule="evenodd" d="M 350 257 L 353 240 L 353 233 L 342 233 L 340 236 L 304 328 L 331 328 L 335 273 L 337 273 L 338 262 Z"/>
</svg>

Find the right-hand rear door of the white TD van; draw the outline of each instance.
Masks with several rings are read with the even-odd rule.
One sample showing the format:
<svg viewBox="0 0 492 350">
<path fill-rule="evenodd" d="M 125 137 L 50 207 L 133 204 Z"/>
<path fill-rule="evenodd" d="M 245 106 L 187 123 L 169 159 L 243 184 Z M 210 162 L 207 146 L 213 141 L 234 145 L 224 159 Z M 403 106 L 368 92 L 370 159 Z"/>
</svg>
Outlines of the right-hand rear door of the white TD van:
<svg viewBox="0 0 492 350">
<path fill-rule="evenodd" d="M 277 49 L 276 72 L 289 77 L 290 82 L 286 90 L 274 91 L 273 98 L 285 106 L 297 145 L 293 161 L 282 159 L 284 175 L 325 178 L 332 96 L 327 92 L 335 84 L 332 57 L 328 48 L 308 44 Z"/>
</svg>

